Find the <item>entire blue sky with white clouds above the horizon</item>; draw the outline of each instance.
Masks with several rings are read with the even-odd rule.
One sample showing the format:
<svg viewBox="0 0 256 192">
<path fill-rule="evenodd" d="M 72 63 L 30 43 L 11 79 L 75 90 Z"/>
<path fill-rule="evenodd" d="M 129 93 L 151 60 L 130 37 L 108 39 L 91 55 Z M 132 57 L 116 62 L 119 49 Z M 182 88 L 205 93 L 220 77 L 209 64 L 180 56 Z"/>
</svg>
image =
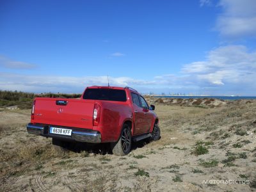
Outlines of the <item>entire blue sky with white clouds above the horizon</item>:
<svg viewBox="0 0 256 192">
<path fill-rule="evenodd" d="M 0 89 L 256 95 L 256 1 L 0 1 Z"/>
</svg>

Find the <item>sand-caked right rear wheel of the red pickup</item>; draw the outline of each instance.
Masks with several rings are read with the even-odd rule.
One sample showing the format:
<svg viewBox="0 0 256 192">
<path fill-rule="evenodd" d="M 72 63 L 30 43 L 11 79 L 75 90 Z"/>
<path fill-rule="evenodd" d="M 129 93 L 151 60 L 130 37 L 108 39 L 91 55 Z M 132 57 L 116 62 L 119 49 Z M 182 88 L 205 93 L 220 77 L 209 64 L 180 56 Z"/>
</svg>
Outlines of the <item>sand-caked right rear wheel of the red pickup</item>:
<svg viewBox="0 0 256 192">
<path fill-rule="evenodd" d="M 111 143 L 113 154 L 125 156 L 129 154 L 132 145 L 132 133 L 129 125 L 124 124 L 120 137 L 116 143 Z"/>
</svg>

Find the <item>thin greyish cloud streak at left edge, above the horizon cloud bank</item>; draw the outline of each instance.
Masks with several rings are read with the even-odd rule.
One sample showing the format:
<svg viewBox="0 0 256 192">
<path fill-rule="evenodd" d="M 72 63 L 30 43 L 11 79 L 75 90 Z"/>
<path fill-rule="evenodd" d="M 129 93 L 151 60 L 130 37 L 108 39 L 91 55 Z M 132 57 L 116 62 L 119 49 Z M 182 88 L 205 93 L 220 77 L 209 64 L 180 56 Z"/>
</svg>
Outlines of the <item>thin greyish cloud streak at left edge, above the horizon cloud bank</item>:
<svg viewBox="0 0 256 192">
<path fill-rule="evenodd" d="M 30 69 L 36 68 L 35 64 L 25 63 L 22 61 L 13 61 L 5 56 L 0 56 L 0 67 L 4 68 L 16 68 L 16 69 Z"/>
</svg>

